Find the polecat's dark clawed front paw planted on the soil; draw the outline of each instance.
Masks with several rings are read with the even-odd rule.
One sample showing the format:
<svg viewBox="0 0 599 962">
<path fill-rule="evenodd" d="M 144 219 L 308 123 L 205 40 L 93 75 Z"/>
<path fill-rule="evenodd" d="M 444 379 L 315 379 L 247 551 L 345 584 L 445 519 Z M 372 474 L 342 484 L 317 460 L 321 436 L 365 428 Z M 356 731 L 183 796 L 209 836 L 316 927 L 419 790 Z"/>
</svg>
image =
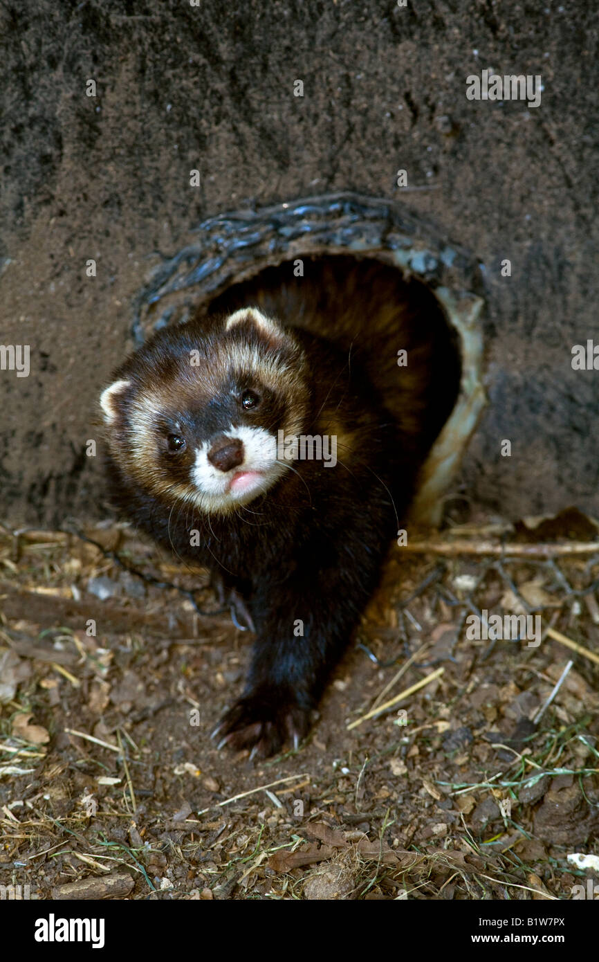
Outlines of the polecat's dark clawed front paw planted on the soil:
<svg viewBox="0 0 599 962">
<path fill-rule="evenodd" d="M 251 748 L 250 758 L 267 758 L 286 743 L 299 747 L 310 729 L 311 710 L 294 696 L 264 696 L 260 692 L 239 698 L 212 732 L 218 747 Z"/>
</svg>

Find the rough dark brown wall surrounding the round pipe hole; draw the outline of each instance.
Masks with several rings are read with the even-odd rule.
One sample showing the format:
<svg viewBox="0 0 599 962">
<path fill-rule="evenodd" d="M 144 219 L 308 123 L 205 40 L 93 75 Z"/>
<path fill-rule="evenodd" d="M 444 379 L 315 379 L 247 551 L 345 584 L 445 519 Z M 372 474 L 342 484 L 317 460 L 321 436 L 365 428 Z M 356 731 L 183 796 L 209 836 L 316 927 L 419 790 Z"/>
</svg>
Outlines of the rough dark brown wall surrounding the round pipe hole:
<svg viewBox="0 0 599 962">
<path fill-rule="evenodd" d="M 156 251 L 332 190 L 399 198 L 481 261 L 490 403 L 463 489 L 599 512 L 599 371 L 571 366 L 599 343 L 597 30 L 583 2 L 3 3 L 0 343 L 31 369 L 0 370 L 2 514 L 104 514 L 90 419 Z M 540 75 L 540 105 L 468 100 L 485 68 Z"/>
</svg>

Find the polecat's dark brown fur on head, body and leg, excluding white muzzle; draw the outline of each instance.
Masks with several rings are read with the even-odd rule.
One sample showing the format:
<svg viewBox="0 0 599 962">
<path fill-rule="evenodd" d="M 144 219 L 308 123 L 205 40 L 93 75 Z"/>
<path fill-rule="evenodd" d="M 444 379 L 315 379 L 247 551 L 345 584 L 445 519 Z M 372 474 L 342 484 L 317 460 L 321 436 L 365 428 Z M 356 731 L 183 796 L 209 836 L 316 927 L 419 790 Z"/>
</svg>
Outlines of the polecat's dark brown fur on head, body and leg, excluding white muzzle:
<svg viewBox="0 0 599 962">
<path fill-rule="evenodd" d="M 160 332 L 103 395 L 115 501 L 178 556 L 210 568 L 256 627 L 244 693 L 217 730 L 223 744 L 260 755 L 308 732 L 460 380 L 432 295 L 418 297 L 383 265 L 306 266 L 310 279 L 281 266 Z M 265 316 L 246 317 L 252 307 Z M 400 349 L 408 367 L 397 366 Z M 169 454 L 165 439 L 181 431 L 192 440 L 196 471 L 204 439 L 226 449 L 239 378 L 272 394 L 257 422 L 266 441 L 278 429 L 334 435 L 337 465 L 295 461 L 247 505 L 212 510 L 198 494 L 192 445 Z M 240 437 L 253 416 L 235 410 L 230 433 Z"/>
</svg>

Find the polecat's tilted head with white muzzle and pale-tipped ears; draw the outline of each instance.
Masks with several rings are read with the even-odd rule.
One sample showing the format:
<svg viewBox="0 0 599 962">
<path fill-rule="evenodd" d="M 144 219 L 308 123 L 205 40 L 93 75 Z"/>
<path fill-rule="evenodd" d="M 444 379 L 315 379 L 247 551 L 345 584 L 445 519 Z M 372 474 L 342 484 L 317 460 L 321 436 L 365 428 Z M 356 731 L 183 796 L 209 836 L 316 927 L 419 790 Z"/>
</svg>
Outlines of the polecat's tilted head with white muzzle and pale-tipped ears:
<svg viewBox="0 0 599 962">
<path fill-rule="evenodd" d="M 278 432 L 308 410 L 304 354 L 255 308 L 161 331 L 100 397 L 112 458 L 146 494 L 227 514 L 289 467 Z"/>
</svg>

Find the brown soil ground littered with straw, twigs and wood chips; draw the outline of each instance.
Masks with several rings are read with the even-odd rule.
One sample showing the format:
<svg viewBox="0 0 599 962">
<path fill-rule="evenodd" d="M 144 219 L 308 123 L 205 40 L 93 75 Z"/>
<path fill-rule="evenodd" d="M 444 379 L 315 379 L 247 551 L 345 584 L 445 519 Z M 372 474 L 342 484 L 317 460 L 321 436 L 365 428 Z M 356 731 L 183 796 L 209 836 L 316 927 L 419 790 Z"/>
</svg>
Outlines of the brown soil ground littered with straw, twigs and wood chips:
<svg viewBox="0 0 599 962">
<path fill-rule="evenodd" d="M 127 527 L 4 529 L 0 884 L 37 899 L 572 898 L 586 879 L 567 855 L 599 851 L 597 528 L 576 511 L 491 520 L 441 540 L 587 550 L 393 549 L 310 737 L 265 762 L 210 738 L 250 641 L 228 613 L 197 612 L 186 593 L 204 573 Z M 208 587 L 194 601 L 214 611 Z M 540 644 L 469 639 L 482 609 L 539 613 Z"/>
</svg>

